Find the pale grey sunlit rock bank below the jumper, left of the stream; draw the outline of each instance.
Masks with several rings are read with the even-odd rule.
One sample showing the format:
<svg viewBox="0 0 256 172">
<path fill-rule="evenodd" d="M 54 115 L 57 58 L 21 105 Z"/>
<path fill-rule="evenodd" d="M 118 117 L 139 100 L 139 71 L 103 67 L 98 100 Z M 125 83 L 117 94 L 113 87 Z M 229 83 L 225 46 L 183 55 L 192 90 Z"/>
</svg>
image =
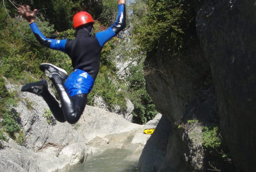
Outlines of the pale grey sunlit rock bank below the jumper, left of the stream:
<svg viewBox="0 0 256 172">
<path fill-rule="evenodd" d="M 68 171 L 86 161 L 88 156 L 92 157 L 92 148 L 88 146 L 98 144 L 90 144 L 94 138 L 101 138 L 100 145 L 124 141 L 142 127 L 92 106 L 86 106 L 76 125 L 54 120 L 48 124 L 43 117 L 48 106 L 41 97 L 21 93 L 21 99 L 16 110 L 20 113 L 20 124 L 27 138 L 26 147 L 11 139 L 4 142 L 5 148 L 0 150 L 0 165 L 5 171 Z M 30 110 L 26 106 L 28 103 L 33 107 Z M 44 145 L 46 147 L 38 151 Z"/>
</svg>

